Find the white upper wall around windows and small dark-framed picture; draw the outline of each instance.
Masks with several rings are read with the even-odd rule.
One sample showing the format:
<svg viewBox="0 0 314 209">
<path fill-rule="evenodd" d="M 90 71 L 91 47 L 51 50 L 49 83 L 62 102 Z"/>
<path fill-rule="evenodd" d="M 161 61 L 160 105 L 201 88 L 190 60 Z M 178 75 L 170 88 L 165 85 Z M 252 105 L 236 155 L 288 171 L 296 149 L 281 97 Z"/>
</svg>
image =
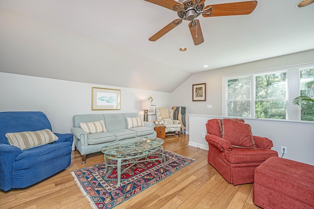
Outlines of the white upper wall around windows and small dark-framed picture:
<svg viewBox="0 0 314 209">
<path fill-rule="evenodd" d="M 241 50 L 241 49 L 239 49 Z M 258 50 L 257 50 L 258 53 Z M 289 54 L 281 57 L 260 60 L 251 63 L 195 73 L 171 94 L 172 106 L 183 106 L 186 114 L 222 115 L 222 77 L 251 71 L 269 70 L 286 66 L 314 62 L 314 50 Z M 192 85 L 206 83 L 206 101 L 192 101 Z M 211 104 L 212 109 L 207 109 Z M 186 130 L 189 133 L 189 118 L 186 118 Z"/>
</svg>

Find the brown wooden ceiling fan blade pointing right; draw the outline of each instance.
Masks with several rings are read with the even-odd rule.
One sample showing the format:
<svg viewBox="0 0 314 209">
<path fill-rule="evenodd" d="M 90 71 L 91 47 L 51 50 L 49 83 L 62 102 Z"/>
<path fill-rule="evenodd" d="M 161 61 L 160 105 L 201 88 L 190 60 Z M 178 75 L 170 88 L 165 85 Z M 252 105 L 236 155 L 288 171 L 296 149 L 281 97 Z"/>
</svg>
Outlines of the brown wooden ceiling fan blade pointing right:
<svg viewBox="0 0 314 209">
<path fill-rule="evenodd" d="M 257 6 L 257 1 L 243 1 L 235 3 L 221 3 L 214 5 L 207 5 L 204 10 L 212 7 L 210 15 L 202 14 L 203 17 L 229 16 L 229 15 L 248 15 L 254 11 Z M 210 11 L 208 11 L 210 12 Z"/>
</svg>

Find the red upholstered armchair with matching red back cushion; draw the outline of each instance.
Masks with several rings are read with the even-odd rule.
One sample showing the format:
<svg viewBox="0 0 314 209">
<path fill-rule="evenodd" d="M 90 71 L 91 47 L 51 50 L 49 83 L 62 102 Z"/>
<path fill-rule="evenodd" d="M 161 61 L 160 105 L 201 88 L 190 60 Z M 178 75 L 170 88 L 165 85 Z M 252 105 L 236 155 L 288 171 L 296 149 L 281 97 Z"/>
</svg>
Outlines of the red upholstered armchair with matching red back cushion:
<svg viewBox="0 0 314 209">
<path fill-rule="evenodd" d="M 206 124 L 208 163 L 233 185 L 254 182 L 254 170 L 278 153 L 270 139 L 253 136 L 243 119 L 210 119 Z"/>
</svg>

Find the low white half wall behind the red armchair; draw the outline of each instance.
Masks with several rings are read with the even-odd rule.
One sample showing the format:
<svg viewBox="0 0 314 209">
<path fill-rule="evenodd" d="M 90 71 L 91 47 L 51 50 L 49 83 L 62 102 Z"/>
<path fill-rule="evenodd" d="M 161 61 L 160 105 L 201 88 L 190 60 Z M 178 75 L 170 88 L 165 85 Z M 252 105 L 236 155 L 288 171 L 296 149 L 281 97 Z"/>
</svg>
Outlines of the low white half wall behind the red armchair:
<svg viewBox="0 0 314 209">
<path fill-rule="evenodd" d="M 207 133 L 206 123 L 212 118 L 222 116 L 189 115 L 190 131 L 189 145 L 208 150 L 208 142 L 202 137 Z M 278 152 L 281 146 L 287 147 L 287 154 L 283 158 L 314 165 L 314 123 L 301 121 L 263 120 L 244 118 L 252 127 L 252 134 L 267 137 L 273 141 L 273 150 Z"/>
</svg>

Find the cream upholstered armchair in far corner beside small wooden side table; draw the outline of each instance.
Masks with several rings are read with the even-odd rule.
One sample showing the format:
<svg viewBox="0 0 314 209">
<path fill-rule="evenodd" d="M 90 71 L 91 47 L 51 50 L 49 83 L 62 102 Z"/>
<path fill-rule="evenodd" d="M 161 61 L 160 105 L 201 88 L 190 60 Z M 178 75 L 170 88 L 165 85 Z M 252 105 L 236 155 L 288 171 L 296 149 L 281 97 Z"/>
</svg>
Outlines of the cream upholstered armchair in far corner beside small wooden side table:
<svg viewBox="0 0 314 209">
<path fill-rule="evenodd" d="M 165 126 L 166 136 L 174 135 L 175 132 L 178 132 L 178 135 L 181 135 L 181 124 L 179 120 L 173 119 L 173 110 L 165 107 L 156 108 L 156 119 L 163 126 Z M 169 133 L 174 132 L 174 133 Z"/>
</svg>

